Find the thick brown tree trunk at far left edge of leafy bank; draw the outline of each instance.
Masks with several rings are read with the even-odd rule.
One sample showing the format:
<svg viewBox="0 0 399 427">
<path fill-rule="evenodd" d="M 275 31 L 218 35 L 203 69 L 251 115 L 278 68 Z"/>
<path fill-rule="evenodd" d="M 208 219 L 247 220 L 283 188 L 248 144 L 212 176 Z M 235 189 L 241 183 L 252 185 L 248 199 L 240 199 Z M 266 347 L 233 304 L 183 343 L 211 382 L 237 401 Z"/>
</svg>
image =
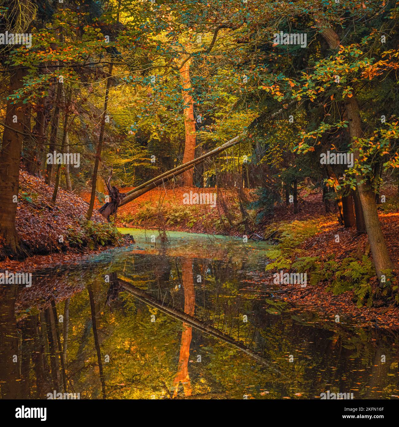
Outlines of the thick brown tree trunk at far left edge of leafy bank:
<svg viewBox="0 0 399 427">
<path fill-rule="evenodd" d="M 24 71 L 13 70 L 10 76 L 10 94 L 22 88 Z M 23 138 L 23 104 L 14 99 L 7 101 L 3 143 L 0 152 L 0 236 L 12 254 L 19 252 L 19 238 L 15 229 L 19 167 Z M 16 117 L 16 122 L 14 118 Z M 22 133 L 18 133 L 22 132 Z"/>
</svg>

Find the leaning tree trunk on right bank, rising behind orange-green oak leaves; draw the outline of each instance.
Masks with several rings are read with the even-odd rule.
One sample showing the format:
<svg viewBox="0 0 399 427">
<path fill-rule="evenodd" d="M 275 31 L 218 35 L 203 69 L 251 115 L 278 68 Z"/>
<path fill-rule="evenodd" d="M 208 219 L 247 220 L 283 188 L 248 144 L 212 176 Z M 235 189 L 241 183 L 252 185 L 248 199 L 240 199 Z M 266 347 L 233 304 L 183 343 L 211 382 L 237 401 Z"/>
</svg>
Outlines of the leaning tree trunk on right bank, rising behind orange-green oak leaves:
<svg viewBox="0 0 399 427">
<path fill-rule="evenodd" d="M 321 18 L 315 18 L 317 26 L 321 29 L 321 35 L 328 43 L 330 49 L 335 50 L 341 44 L 338 34 Z M 359 160 L 359 149 L 356 147 L 356 141 L 362 136 L 361 118 L 359 106 L 353 90 L 352 97 L 346 98 L 345 110 L 348 117 L 349 136 L 352 142 L 355 160 Z M 378 217 L 376 197 L 371 187 L 370 181 L 364 175 L 356 175 L 357 188 L 361 207 L 363 208 L 364 223 L 366 225 L 367 236 L 370 242 L 370 250 L 373 254 L 374 265 L 376 267 L 377 277 L 381 286 L 384 286 L 383 278 L 390 276 L 393 270 L 393 263 L 390 259 L 387 245 Z"/>
</svg>

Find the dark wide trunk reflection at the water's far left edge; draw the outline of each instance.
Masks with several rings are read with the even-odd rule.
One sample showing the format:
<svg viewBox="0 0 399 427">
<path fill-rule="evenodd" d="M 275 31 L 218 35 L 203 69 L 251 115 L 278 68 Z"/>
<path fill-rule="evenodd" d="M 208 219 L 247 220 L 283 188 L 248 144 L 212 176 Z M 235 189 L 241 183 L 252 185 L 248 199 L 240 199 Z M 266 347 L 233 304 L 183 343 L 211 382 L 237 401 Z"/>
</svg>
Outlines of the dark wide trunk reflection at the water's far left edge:
<svg viewBox="0 0 399 427">
<path fill-rule="evenodd" d="M 15 299 L 17 285 L 3 287 L 0 304 L 0 383 L 2 399 L 22 399 L 19 363 L 13 357 L 18 354 Z"/>
</svg>

